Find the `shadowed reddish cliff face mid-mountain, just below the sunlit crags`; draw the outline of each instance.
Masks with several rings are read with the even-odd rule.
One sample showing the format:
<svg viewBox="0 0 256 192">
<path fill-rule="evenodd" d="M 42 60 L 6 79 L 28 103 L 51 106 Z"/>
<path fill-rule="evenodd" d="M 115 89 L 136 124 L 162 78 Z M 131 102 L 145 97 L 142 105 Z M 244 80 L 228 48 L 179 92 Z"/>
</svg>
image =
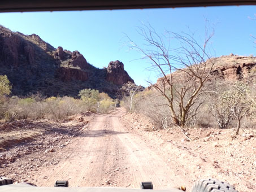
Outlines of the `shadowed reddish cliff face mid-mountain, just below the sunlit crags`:
<svg viewBox="0 0 256 192">
<path fill-rule="evenodd" d="M 70 67 L 59 67 L 56 71 L 56 76 L 63 82 L 70 82 L 72 80 L 88 80 L 88 73 L 81 71 L 80 69 Z"/>
</svg>

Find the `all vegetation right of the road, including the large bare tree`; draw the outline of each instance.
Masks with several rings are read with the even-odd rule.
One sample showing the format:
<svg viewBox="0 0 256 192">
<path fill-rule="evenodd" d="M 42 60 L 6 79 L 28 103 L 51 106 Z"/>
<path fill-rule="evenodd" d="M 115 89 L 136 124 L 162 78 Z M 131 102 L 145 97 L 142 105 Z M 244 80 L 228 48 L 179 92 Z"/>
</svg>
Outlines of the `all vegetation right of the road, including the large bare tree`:
<svg viewBox="0 0 256 192">
<path fill-rule="evenodd" d="M 190 141 L 190 128 L 235 128 L 237 135 L 240 128 L 251 128 L 255 117 L 253 78 L 232 82 L 212 78 L 216 59 L 209 44 L 214 29 L 207 25 L 208 21 L 202 42 L 194 34 L 160 35 L 150 25 L 138 28 L 144 44 L 128 37 L 129 47 L 141 53 L 160 78 L 149 82 L 145 91 L 128 94 L 123 106 L 149 116 L 158 129 L 178 127 Z"/>
</svg>

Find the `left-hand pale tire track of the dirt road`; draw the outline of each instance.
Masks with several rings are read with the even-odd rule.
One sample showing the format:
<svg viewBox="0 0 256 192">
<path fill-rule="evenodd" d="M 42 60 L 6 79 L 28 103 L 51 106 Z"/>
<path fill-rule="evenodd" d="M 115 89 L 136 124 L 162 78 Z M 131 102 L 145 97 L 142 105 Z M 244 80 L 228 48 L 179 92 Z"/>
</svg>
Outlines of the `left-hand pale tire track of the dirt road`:
<svg viewBox="0 0 256 192">
<path fill-rule="evenodd" d="M 110 159 L 107 158 L 110 154 L 107 149 L 114 145 L 110 142 L 107 124 L 105 116 L 97 116 L 89 130 L 63 149 L 63 159 L 58 165 L 41 170 L 36 184 L 53 186 L 56 180 L 68 180 L 70 186 L 101 185 L 106 177 L 106 162 Z"/>
</svg>

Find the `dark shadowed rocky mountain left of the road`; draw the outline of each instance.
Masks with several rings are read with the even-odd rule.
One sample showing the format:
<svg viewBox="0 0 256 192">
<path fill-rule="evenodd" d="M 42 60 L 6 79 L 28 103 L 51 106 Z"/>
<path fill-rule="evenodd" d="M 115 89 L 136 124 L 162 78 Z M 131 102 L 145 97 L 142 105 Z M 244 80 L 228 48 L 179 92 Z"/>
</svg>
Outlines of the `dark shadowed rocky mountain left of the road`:
<svg viewBox="0 0 256 192">
<path fill-rule="evenodd" d="M 36 34 L 25 35 L 0 25 L 0 75 L 7 75 L 12 94 L 40 91 L 47 96 L 76 96 L 85 88 L 115 97 L 120 86 L 132 81 L 124 64 L 116 60 L 99 69 L 79 51 L 55 49 Z"/>
</svg>

